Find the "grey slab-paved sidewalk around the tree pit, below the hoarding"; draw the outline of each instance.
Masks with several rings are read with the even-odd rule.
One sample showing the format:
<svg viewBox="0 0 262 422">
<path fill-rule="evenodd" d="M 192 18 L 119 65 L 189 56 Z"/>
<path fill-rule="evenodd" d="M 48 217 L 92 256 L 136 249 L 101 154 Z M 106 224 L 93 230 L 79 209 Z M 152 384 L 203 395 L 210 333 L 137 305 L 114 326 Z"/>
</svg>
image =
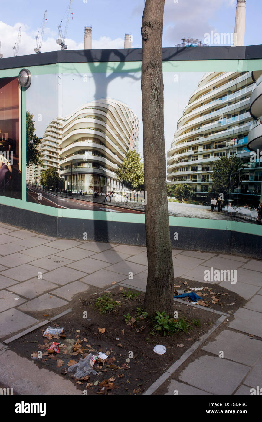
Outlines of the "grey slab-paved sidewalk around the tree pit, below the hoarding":
<svg viewBox="0 0 262 422">
<path fill-rule="evenodd" d="M 248 302 L 228 317 L 217 337 L 201 346 L 195 360 L 164 383 L 161 393 L 250 394 L 251 387 L 262 386 L 262 343 L 249 339 L 249 334 L 262 338 L 262 261 L 175 249 L 172 254 L 175 277 L 203 285 L 208 268 L 237 270 L 236 284 L 211 283 L 238 293 Z M 1 341 L 8 342 L 17 333 L 46 324 L 46 311 L 59 314 L 69 309 L 78 293 L 102 290 L 113 281 L 145 289 L 146 279 L 145 247 L 56 239 L 0 223 Z M 35 312 L 37 317 L 32 316 Z M 223 359 L 218 357 L 220 351 Z"/>
</svg>

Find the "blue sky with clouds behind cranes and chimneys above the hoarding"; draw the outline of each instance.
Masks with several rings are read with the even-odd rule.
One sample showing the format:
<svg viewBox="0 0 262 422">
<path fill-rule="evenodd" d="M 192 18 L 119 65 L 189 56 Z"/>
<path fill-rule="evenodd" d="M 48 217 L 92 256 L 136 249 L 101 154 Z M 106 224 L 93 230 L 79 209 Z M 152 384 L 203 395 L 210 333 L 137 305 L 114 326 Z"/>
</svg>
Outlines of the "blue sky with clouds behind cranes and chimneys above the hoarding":
<svg viewBox="0 0 262 422">
<path fill-rule="evenodd" d="M 22 37 L 21 54 L 33 54 L 34 36 L 40 27 L 45 9 L 48 10 L 47 25 L 42 51 L 59 49 L 57 26 L 69 5 L 69 0 L 41 2 L 12 0 L 1 2 L 0 41 L 4 57 L 13 55 L 19 24 Z M 245 44 L 261 44 L 260 29 L 262 19 L 261 0 L 246 2 Z M 93 48 L 120 48 L 124 46 L 124 33 L 131 33 L 133 47 L 141 47 L 140 27 L 144 0 L 73 0 L 73 20 L 69 21 L 67 44 L 69 49 L 83 47 L 85 25 L 92 25 Z M 171 47 L 180 43 L 183 37 L 199 38 L 215 32 L 234 32 L 236 0 L 166 0 L 164 12 L 163 46 Z M 64 27 L 65 20 L 62 23 Z"/>
</svg>

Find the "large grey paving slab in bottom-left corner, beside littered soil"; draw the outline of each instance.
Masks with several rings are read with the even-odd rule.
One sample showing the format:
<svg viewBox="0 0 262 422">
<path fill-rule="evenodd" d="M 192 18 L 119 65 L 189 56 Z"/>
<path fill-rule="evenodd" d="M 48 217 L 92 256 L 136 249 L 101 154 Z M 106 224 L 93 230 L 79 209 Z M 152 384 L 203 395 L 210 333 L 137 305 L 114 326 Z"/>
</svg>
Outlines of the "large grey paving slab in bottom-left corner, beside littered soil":
<svg viewBox="0 0 262 422">
<path fill-rule="evenodd" d="M 9 349 L 3 349 L 0 354 L 1 382 L 19 395 L 82 395 L 72 381 L 40 368 L 33 360 Z"/>
</svg>

